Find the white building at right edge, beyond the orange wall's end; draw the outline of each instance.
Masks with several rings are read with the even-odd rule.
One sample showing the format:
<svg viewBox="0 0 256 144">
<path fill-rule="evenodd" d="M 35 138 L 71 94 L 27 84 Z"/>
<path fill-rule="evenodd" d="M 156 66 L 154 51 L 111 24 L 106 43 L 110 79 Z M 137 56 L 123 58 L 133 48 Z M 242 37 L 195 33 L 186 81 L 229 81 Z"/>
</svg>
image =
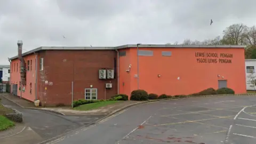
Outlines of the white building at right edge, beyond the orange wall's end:
<svg viewBox="0 0 256 144">
<path fill-rule="evenodd" d="M 256 59 L 245 59 L 246 90 L 256 90 Z M 253 85 L 254 83 L 254 85 Z"/>
</svg>

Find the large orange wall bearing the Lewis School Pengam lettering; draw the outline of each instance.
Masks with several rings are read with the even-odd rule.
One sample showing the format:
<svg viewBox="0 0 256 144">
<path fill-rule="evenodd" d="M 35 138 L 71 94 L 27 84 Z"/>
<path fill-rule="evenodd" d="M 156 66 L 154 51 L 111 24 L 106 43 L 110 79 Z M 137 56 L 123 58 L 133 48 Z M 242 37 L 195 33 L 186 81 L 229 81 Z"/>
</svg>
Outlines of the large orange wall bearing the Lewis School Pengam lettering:
<svg viewBox="0 0 256 144">
<path fill-rule="evenodd" d="M 218 80 L 221 79 L 227 80 L 227 86 L 234 89 L 235 93 L 246 92 L 244 49 L 140 48 L 140 50 L 154 51 L 153 56 L 139 56 L 139 89 L 148 93 L 176 95 L 191 94 L 209 87 L 218 89 Z M 137 90 L 138 86 L 137 78 L 134 77 L 137 74 L 137 49 L 131 48 L 126 51 L 129 57 L 127 53 L 126 57 L 120 57 L 119 93 L 130 95 L 130 92 Z M 171 51 L 172 56 L 163 57 L 162 51 Z M 233 54 L 233 58 L 227 59 L 231 59 L 232 63 L 219 63 L 219 61 L 198 63 L 196 52 L 218 53 L 218 55 L 230 53 Z M 129 74 L 125 72 L 128 63 L 132 65 Z M 123 86 L 124 81 L 127 84 Z"/>
</svg>

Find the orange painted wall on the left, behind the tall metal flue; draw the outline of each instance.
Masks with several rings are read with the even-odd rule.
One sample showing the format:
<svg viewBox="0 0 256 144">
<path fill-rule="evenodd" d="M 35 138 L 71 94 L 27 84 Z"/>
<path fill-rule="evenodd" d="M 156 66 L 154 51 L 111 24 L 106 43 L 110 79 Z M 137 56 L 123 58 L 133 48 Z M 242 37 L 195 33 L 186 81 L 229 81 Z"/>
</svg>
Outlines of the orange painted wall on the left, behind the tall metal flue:
<svg viewBox="0 0 256 144">
<path fill-rule="evenodd" d="M 24 57 L 25 62 L 26 62 L 26 67 L 27 67 L 27 61 L 32 60 L 32 65 L 30 64 L 30 69 L 27 70 L 26 73 L 26 81 L 27 84 L 25 86 L 25 92 L 22 92 L 22 98 L 25 98 L 30 101 L 35 100 L 35 83 L 36 83 L 36 70 L 35 70 L 35 59 L 36 56 L 35 54 L 27 55 Z M 15 68 L 14 68 L 14 63 L 15 63 Z M 30 61 L 31 63 L 31 61 Z M 18 67 L 17 67 L 18 64 Z M 32 69 L 31 69 L 32 68 Z M 18 96 L 20 97 L 21 91 L 19 91 L 19 82 L 20 82 L 20 60 L 15 59 L 11 61 L 11 85 L 12 84 L 18 84 Z M 31 83 L 31 93 L 30 93 L 30 83 Z M 11 86 L 11 92 L 12 92 L 12 86 Z"/>
</svg>

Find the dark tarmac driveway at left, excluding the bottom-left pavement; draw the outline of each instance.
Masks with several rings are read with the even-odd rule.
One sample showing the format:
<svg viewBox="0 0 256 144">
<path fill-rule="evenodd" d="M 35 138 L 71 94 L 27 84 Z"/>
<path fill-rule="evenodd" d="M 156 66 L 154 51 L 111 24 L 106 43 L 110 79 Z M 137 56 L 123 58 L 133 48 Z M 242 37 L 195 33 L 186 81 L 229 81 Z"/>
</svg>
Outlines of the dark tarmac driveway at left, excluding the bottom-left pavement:
<svg viewBox="0 0 256 144">
<path fill-rule="evenodd" d="M 87 125 L 103 117 L 62 116 L 54 113 L 49 113 L 47 111 L 21 108 L 20 106 L 5 98 L 2 98 L 2 103 L 7 107 L 11 107 L 20 111 L 23 114 L 23 123 L 25 124 L 25 126 L 29 127 L 30 130 L 36 132 L 41 137 L 42 141 L 56 137 L 65 132 L 75 130 L 78 127 Z"/>
</svg>

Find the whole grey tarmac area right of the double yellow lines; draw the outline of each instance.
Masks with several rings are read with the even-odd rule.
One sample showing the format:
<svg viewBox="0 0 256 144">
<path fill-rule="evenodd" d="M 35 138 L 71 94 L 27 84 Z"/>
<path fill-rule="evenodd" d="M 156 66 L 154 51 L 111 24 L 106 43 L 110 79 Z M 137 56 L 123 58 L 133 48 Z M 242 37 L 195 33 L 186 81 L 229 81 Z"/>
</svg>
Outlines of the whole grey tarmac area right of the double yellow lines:
<svg viewBox="0 0 256 144">
<path fill-rule="evenodd" d="M 256 143 L 256 97 L 144 103 L 52 143 Z"/>
</svg>

